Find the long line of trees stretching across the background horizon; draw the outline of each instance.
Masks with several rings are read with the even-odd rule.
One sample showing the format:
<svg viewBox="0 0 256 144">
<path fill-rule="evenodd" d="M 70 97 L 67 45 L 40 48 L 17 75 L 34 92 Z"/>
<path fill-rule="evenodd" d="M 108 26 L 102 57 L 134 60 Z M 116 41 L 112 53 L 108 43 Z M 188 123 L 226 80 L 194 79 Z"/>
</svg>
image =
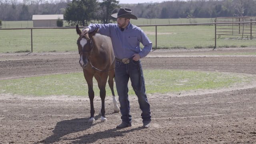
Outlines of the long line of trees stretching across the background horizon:
<svg viewBox="0 0 256 144">
<path fill-rule="evenodd" d="M 33 14 L 64 14 L 70 25 L 108 23 L 111 11 L 129 7 L 138 18 L 215 18 L 256 16 L 256 0 L 189 0 L 119 4 L 118 0 L 0 0 L 0 20 L 32 20 Z M 65 20 L 66 20 L 65 19 Z"/>
</svg>

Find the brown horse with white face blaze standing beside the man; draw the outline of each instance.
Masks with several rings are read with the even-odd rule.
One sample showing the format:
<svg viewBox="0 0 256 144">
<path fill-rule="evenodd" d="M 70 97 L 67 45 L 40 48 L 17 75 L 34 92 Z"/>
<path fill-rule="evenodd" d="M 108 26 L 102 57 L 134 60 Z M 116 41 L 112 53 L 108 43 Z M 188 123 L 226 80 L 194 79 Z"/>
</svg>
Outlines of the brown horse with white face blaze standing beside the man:
<svg viewBox="0 0 256 144">
<path fill-rule="evenodd" d="M 105 97 L 106 97 L 106 82 L 108 79 L 108 84 L 113 95 L 114 112 L 119 112 L 119 107 L 117 105 L 116 97 L 114 94 L 114 76 L 115 76 L 115 56 L 112 48 L 111 39 L 108 36 L 103 36 L 97 34 L 98 30 L 94 32 L 82 35 L 81 30 L 76 25 L 76 33 L 79 34 L 77 40 L 78 52 L 80 54 L 80 66 L 84 71 L 84 78 L 88 84 L 88 95 L 90 98 L 91 106 L 91 116 L 89 123 L 94 122 L 94 91 L 93 91 L 93 77 L 98 82 L 98 87 L 100 89 L 101 98 L 101 121 L 106 121 L 105 116 Z M 109 78 L 108 78 L 109 77 Z"/>
</svg>

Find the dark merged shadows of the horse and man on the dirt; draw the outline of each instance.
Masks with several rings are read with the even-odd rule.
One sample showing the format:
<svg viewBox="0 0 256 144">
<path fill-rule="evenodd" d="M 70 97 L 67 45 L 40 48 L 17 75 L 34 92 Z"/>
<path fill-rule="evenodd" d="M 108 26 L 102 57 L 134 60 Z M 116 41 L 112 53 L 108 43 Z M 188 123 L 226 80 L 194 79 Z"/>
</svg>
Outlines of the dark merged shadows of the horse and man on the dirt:
<svg viewBox="0 0 256 144">
<path fill-rule="evenodd" d="M 96 116 L 95 119 L 100 118 L 100 116 Z M 97 141 L 98 139 L 103 138 L 110 138 L 110 137 L 116 137 L 116 136 L 122 136 L 124 133 L 132 132 L 134 130 L 139 130 L 142 127 L 138 128 L 132 128 L 129 130 L 122 130 L 117 131 L 116 128 L 109 129 L 103 132 L 95 132 L 94 134 L 86 134 L 84 136 L 79 136 L 77 138 L 62 138 L 65 135 L 84 131 L 89 129 L 90 127 L 94 126 L 94 124 L 88 124 L 88 118 L 76 118 L 72 120 L 63 120 L 60 122 L 57 122 L 54 130 L 52 130 L 53 134 L 44 140 L 41 140 L 37 143 L 43 143 L 43 144 L 52 144 L 55 142 L 59 142 L 60 140 L 72 140 L 74 144 L 87 144 Z"/>
</svg>

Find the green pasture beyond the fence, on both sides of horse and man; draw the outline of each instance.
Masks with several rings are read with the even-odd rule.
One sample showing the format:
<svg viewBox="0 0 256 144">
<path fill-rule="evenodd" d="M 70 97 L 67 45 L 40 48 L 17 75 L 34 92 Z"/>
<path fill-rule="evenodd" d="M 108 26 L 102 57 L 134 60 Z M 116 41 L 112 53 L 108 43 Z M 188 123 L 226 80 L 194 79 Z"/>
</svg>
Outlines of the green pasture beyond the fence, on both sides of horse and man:
<svg viewBox="0 0 256 144">
<path fill-rule="evenodd" d="M 146 22 L 147 21 L 147 22 Z M 148 24 L 176 24 L 211 22 L 212 19 L 140 19 L 132 20 L 135 25 Z M 7 22 L 3 22 L 6 25 Z M 66 24 L 66 22 L 65 22 Z M 32 21 L 8 22 L 11 28 L 20 26 L 32 27 Z M 4 25 L 2 26 L 4 28 Z M 146 32 L 153 47 L 156 47 L 155 26 L 141 26 Z M 30 52 L 31 34 L 27 30 L 1 30 L 0 52 Z M 212 25 L 197 26 L 157 26 L 157 48 L 213 48 L 215 30 Z M 71 29 L 33 29 L 33 52 L 76 51 L 78 36 L 74 28 Z M 256 40 L 239 39 L 237 36 L 221 36 L 217 38 L 217 47 L 247 47 L 256 46 Z"/>
</svg>

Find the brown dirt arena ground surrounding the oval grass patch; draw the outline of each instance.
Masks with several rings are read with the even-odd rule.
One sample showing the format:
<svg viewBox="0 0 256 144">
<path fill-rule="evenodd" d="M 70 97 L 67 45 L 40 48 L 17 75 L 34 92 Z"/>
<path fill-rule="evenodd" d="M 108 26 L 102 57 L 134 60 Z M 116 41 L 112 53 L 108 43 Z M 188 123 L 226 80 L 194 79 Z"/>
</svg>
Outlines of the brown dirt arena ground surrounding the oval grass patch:
<svg viewBox="0 0 256 144">
<path fill-rule="evenodd" d="M 142 58 L 142 67 L 256 74 L 255 52 L 256 48 L 156 50 Z M 77 52 L 0 54 L 0 80 L 82 72 L 78 57 Z M 137 98 L 130 96 L 132 126 L 116 129 L 121 114 L 113 113 L 110 96 L 106 98 L 107 121 L 102 123 L 96 116 L 96 123 L 90 125 L 88 98 L 0 94 L 0 144 L 256 143 L 254 86 L 220 92 L 148 94 L 148 100 L 150 128 L 142 128 Z M 99 96 L 94 102 L 97 115 Z"/>
</svg>

